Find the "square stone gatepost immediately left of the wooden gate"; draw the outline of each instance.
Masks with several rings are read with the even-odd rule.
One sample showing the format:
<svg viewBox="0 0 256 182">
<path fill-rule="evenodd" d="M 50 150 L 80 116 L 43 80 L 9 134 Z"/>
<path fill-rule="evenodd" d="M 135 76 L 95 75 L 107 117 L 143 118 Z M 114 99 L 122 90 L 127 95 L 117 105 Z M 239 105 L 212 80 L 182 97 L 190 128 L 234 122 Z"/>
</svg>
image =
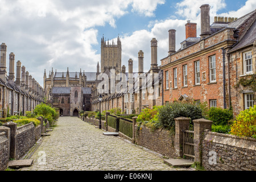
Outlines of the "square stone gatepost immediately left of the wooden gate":
<svg viewBox="0 0 256 182">
<path fill-rule="evenodd" d="M 188 129 L 190 118 L 179 117 L 175 118 L 175 150 L 176 155 L 183 156 L 183 135 L 184 130 Z"/>
</svg>

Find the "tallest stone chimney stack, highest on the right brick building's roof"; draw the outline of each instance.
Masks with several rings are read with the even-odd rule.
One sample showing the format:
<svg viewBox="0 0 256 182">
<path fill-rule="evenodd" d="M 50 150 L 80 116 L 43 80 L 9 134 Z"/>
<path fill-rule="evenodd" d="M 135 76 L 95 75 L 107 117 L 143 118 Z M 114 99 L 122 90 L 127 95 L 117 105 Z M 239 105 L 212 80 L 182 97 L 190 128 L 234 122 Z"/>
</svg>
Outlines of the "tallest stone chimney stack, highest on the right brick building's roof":
<svg viewBox="0 0 256 182">
<path fill-rule="evenodd" d="M 210 6 L 202 5 L 201 9 L 201 39 L 210 35 Z"/>
</svg>

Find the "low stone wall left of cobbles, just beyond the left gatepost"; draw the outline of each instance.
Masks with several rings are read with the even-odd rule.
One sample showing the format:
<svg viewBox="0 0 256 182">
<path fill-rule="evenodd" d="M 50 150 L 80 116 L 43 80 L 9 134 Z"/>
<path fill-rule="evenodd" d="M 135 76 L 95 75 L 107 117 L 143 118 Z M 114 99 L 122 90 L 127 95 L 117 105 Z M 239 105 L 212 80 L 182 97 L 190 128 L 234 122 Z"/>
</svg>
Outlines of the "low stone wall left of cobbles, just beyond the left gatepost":
<svg viewBox="0 0 256 182">
<path fill-rule="evenodd" d="M 29 123 L 24 126 L 20 126 L 16 131 L 16 157 L 20 159 L 32 146 L 34 146 L 35 140 L 35 126 L 33 123 Z"/>
</svg>

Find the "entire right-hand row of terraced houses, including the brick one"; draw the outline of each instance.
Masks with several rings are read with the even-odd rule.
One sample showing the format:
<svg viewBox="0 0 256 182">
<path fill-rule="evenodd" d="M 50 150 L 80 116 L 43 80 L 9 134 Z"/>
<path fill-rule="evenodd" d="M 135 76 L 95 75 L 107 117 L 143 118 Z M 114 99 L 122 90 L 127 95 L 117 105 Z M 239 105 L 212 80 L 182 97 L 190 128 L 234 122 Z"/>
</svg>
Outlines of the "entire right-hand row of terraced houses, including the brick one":
<svg viewBox="0 0 256 182">
<path fill-rule="evenodd" d="M 207 102 L 210 107 L 232 107 L 235 115 L 253 107 L 255 90 L 250 85 L 241 85 L 240 80 L 255 76 L 256 10 L 240 18 L 216 16 L 210 24 L 210 6 L 202 5 L 200 9 L 200 37 L 197 38 L 197 24 L 188 21 L 185 40 L 176 49 L 176 30 L 172 27 L 168 31 L 168 56 L 160 59 L 161 65 L 157 64 L 156 38 L 151 40 L 151 68 L 148 72 L 143 70 L 143 51 L 138 52 L 138 72 L 133 72 L 131 59 L 128 72 L 124 65 L 117 72 L 115 67 L 119 64 L 113 63 L 101 68 L 101 73 L 109 76 L 109 80 L 101 81 L 104 74 L 100 73 L 98 65 L 96 89 L 92 90 L 92 110 L 100 109 L 101 104 L 101 110 L 119 107 L 127 114 L 141 113 L 145 107 L 191 99 L 197 103 Z M 101 46 L 106 47 L 104 38 Z M 108 57 L 108 52 L 101 52 L 101 55 Z M 118 74 L 121 76 L 114 79 Z M 150 76 L 151 81 L 143 81 L 140 75 L 143 78 Z M 112 84 L 116 85 L 115 88 L 126 88 L 127 92 L 113 91 Z M 101 102 L 98 100 L 100 94 Z"/>
</svg>

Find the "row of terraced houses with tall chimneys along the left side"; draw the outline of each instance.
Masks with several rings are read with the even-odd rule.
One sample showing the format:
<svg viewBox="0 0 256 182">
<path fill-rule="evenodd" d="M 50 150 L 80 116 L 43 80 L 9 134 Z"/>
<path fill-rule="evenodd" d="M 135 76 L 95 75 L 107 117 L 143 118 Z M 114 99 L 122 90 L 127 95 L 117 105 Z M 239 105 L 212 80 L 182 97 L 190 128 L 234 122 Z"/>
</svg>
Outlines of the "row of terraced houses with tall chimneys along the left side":
<svg viewBox="0 0 256 182">
<path fill-rule="evenodd" d="M 22 66 L 20 61 L 16 62 L 15 79 L 15 55 L 9 54 L 9 75 L 7 75 L 6 53 L 7 46 L 2 43 L 0 63 L 0 113 L 1 117 L 10 115 L 25 115 L 26 111 L 32 111 L 44 98 L 43 88 L 32 78 Z"/>
</svg>

